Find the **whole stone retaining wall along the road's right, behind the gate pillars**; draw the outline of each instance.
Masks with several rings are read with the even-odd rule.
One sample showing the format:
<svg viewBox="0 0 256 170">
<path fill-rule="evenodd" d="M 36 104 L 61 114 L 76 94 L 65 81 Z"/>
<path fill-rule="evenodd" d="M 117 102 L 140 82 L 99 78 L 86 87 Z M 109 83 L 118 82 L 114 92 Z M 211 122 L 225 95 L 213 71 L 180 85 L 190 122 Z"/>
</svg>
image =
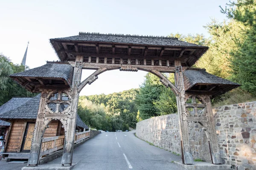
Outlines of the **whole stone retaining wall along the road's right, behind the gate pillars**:
<svg viewBox="0 0 256 170">
<path fill-rule="evenodd" d="M 239 170 L 256 170 L 256 102 L 213 108 L 221 156 Z M 153 117 L 137 123 L 136 134 L 155 146 L 181 154 L 178 115 Z M 189 123 L 194 159 L 210 161 L 207 138 L 199 123 Z M 254 165 L 255 164 L 255 165 Z"/>
</svg>

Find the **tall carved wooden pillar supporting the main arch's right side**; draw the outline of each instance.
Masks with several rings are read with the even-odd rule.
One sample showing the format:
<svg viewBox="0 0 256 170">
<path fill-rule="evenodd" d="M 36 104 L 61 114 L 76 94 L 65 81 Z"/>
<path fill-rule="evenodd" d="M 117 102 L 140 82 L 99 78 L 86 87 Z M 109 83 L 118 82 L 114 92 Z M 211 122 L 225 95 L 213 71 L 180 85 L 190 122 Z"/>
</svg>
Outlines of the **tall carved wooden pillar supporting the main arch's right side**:
<svg viewBox="0 0 256 170">
<path fill-rule="evenodd" d="M 183 82 L 183 71 L 182 71 L 180 61 L 175 60 L 174 64 L 177 67 L 174 75 L 175 75 L 175 86 L 179 91 L 179 95 L 176 96 L 176 101 L 177 101 L 178 116 L 180 119 L 179 126 L 180 126 L 180 140 L 182 144 L 181 150 L 182 150 L 183 163 L 193 164 L 193 159 L 191 155 L 191 145 L 189 141 L 189 126 L 188 126 L 186 106 L 185 106 L 185 89 L 184 89 L 184 82 Z"/>
</svg>

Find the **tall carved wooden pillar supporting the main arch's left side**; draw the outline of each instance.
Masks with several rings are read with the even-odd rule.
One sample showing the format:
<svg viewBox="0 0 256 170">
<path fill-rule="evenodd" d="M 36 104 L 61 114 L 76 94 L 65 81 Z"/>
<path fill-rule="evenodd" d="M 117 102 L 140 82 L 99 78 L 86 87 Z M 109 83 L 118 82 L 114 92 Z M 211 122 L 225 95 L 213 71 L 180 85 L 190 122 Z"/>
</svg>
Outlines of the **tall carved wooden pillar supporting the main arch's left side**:
<svg viewBox="0 0 256 170">
<path fill-rule="evenodd" d="M 76 65 L 73 73 L 73 82 L 71 90 L 71 103 L 70 112 L 67 116 L 67 124 L 65 131 L 65 142 L 63 147 L 63 155 L 61 159 L 62 166 L 64 164 L 72 164 L 73 157 L 73 147 L 74 147 L 74 135 L 76 130 L 76 115 L 77 115 L 77 105 L 79 99 L 78 86 L 80 85 L 83 56 L 76 56 Z M 76 82 L 76 83 L 75 83 Z"/>
</svg>

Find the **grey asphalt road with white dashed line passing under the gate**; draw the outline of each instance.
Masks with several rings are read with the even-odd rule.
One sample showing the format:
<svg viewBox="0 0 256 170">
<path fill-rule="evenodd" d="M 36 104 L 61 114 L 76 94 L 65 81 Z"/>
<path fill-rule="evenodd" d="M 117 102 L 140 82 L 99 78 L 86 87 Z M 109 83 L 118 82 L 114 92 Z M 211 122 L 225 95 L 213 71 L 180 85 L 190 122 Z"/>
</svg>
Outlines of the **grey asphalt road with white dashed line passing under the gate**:
<svg viewBox="0 0 256 170">
<path fill-rule="evenodd" d="M 73 170 L 180 170 L 181 161 L 169 151 L 152 146 L 131 132 L 104 132 L 74 150 Z M 59 163 L 61 158 L 48 164 Z"/>
</svg>

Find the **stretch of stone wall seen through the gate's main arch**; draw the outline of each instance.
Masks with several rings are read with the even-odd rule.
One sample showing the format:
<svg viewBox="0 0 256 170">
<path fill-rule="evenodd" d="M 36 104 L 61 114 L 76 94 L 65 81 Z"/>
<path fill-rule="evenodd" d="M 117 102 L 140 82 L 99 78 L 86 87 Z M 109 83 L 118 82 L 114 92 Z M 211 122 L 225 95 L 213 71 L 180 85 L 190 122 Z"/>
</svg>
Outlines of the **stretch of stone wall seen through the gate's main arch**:
<svg viewBox="0 0 256 170">
<path fill-rule="evenodd" d="M 181 154 L 177 114 L 152 117 L 138 122 L 136 135 L 138 138 L 151 142 L 155 146 Z"/>
</svg>

